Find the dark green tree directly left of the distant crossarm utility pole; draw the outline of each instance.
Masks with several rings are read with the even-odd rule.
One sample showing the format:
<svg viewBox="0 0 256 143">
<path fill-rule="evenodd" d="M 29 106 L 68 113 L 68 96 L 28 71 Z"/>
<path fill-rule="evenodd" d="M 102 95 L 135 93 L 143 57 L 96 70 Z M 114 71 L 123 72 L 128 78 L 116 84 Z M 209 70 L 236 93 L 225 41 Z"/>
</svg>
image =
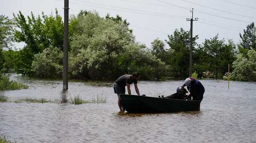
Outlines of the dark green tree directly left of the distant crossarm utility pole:
<svg viewBox="0 0 256 143">
<path fill-rule="evenodd" d="M 189 49 L 190 49 L 190 32 L 185 31 L 182 28 L 176 29 L 173 35 L 168 35 L 168 40 L 165 42 L 170 46 L 169 61 L 170 72 L 176 77 L 187 77 L 189 75 Z M 198 35 L 192 38 L 193 51 L 196 45 L 195 40 L 198 39 Z"/>
</svg>

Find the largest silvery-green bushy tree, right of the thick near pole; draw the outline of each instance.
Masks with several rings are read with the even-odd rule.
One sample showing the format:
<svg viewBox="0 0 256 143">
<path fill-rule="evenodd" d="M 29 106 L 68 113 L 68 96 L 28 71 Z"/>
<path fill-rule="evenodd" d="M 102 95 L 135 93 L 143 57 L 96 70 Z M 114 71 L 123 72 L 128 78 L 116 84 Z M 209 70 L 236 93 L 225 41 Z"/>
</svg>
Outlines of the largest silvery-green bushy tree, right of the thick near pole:
<svg viewBox="0 0 256 143">
<path fill-rule="evenodd" d="M 119 19 L 120 20 L 120 19 Z M 144 79 L 163 75 L 165 63 L 135 42 L 125 23 L 97 12 L 72 16 L 69 73 L 75 78 L 113 79 L 138 71 Z"/>
</svg>

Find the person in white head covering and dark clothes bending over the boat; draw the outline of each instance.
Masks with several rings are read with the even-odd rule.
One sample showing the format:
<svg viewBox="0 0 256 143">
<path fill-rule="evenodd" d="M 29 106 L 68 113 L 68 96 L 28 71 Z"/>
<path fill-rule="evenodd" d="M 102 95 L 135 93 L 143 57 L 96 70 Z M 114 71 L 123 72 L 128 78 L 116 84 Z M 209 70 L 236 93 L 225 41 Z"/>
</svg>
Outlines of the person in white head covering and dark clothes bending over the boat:
<svg viewBox="0 0 256 143">
<path fill-rule="evenodd" d="M 187 86 L 187 90 L 190 92 L 186 99 L 192 97 L 192 100 L 203 100 L 204 86 L 199 80 L 193 77 L 186 78 L 182 88 L 184 88 L 184 86 Z"/>
</svg>

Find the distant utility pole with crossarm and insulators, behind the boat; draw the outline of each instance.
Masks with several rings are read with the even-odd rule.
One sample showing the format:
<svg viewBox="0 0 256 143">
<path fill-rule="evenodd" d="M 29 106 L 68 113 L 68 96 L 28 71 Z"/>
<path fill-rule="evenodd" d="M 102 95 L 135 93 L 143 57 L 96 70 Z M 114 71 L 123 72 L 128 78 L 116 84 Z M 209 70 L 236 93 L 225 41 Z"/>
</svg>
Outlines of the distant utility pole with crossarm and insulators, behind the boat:
<svg viewBox="0 0 256 143">
<path fill-rule="evenodd" d="M 190 21 L 190 52 L 189 52 L 189 77 L 191 77 L 192 76 L 192 51 L 193 51 L 193 48 L 192 48 L 192 46 L 193 46 L 193 41 L 192 41 L 192 39 L 193 39 L 193 21 L 197 21 L 198 20 L 198 18 L 195 18 L 195 19 L 193 19 L 193 10 L 194 10 L 194 8 L 192 8 L 192 11 L 190 11 L 190 12 L 192 12 L 192 18 L 187 18 L 187 21 Z"/>
</svg>

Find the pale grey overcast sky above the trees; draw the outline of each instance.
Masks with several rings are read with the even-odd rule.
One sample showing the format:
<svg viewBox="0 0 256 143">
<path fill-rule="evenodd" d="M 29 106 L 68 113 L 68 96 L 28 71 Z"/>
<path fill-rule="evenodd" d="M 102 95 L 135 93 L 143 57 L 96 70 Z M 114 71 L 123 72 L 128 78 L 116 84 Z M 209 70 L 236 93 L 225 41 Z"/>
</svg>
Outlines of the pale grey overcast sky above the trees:
<svg viewBox="0 0 256 143">
<path fill-rule="evenodd" d="M 57 8 L 63 17 L 63 7 L 64 0 L 2 0 L 0 14 L 13 18 L 12 13 L 20 10 L 26 16 L 31 11 L 34 15 L 42 11 L 49 15 Z M 186 18 L 191 17 L 191 8 L 195 9 L 194 18 L 198 18 L 193 22 L 193 36 L 199 36 L 198 43 L 218 33 L 219 38 L 233 39 L 237 44 L 239 33 L 256 21 L 256 0 L 69 0 L 69 8 L 69 15 L 81 9 L 97 11 L 101 17 L 118 14 L 130 23 L 136 40 L 149 48 L 154 39 L 164 41 L 177 28 L 189 30 Z"/>
</svg>

